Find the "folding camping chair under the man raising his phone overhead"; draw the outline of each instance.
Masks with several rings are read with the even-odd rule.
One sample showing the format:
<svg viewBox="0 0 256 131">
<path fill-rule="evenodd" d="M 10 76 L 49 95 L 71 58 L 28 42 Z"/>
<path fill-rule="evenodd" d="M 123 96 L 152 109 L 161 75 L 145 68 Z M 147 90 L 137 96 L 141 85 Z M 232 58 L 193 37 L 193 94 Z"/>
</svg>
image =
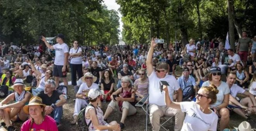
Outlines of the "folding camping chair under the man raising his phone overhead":
<svg viewBox="0 0 256 131">
<path fill-rule="evenodd" d="M 146 113 L 146 131 L 147 131 L 147 125 L 150 123 L 149 122 L 149 104 L 147 103 L 149 99 L 149 94 L 147 94 L 146 96 L 144 96 L 139 102 L 137 102 L 137 104 L 135 104 L 135 106 L 138 107 L 142 107 L 143 111 Z M 146 104 L 146 107 L 144 107 L 144 104 Z M 160 126 L 162 128 L 164 128 L 164 124 L 167 123 L 169 120 L 172 119 L 173 121 L 173 128 L 175 126 L 175 116 L 162 116 L 160 118 L 160 120 L 164 120 L 164 122 L 162 124 L 160 124 Z M 169 131 L 169 129 L 164 128 L 166 131 Z"/>
</svg>

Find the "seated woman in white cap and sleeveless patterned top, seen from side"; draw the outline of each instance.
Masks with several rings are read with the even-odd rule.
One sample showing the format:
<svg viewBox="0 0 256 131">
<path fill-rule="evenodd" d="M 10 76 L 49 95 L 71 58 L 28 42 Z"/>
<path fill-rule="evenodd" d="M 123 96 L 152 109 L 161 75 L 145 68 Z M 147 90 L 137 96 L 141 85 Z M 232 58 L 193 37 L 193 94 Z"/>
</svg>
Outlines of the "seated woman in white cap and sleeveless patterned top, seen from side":
<svg viewBox="0 0 256 131">
<path fill-rule="evenodd" d="M 107 123 L 103 119 L 103 111 L 98 106 L 100 96 L 104 95 L 104 92 L 99 89 L 90 89 L 88 92 L 88 98 L 90 103 L 85 109 L 85 122 L 88 125 L 89 131 L 120 131 L 120 125 L 116 121 Z M 91 124 L 89 124 L 91 122 Z"/>
</svg>

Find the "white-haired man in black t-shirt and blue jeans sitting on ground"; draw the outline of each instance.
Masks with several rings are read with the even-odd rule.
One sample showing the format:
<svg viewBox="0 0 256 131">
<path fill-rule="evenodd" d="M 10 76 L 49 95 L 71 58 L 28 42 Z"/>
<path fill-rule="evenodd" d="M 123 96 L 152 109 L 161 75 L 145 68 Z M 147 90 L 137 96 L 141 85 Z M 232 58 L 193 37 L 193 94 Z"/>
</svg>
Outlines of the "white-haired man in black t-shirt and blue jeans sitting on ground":
<svg viewBox="0 0 256 131">
<path fill-rule="evenodd" d="M 38 92 L 37 96 L 42 98 L 45 107 L 45 114 L 51 116 L 56 121 L 58 128 L 61 126 L 61 118 L 63 114 L 63 105 L 67 101 L 67 97 L 55 90 L 56 83 L 54 80 L 45 82 L 45 90 Z"/>
</svg>

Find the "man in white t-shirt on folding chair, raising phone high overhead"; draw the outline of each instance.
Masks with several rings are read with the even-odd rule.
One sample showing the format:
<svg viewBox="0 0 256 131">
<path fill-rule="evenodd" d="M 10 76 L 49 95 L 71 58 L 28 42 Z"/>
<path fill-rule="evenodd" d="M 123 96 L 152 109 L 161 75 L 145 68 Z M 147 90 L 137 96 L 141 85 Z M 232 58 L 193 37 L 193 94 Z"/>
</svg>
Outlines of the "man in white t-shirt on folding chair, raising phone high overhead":
<svg viewBox="0 0 256 131">
<path fill-rule="evenodd" d="M 175 129 L 174 131 L 180 131 L 182 128 L 184 113 L 181 110 L 167 107 L 164 103 L 164 92 L 160 92 L 160 81 L 166 81 L 169 83 L 168 91 L 171 100 L 173 101 L 173 93 L 177 92 L 178 102 L 182 101 L 182 90 L 175 77 L 167 75 L 168 64 L 159 62 L 156 67 L 156 71 L 153 69 L 152 57 L 154 48 L 157 46 L 155 39 L 152 39 L 150 49 L 147 54 L 147 76 L 149 77 L 149 116 L 150 123 L 152 124 L 152 131 L 160 130 L 160 118 L 162 116 L 175 116 Z"/>
</svg>

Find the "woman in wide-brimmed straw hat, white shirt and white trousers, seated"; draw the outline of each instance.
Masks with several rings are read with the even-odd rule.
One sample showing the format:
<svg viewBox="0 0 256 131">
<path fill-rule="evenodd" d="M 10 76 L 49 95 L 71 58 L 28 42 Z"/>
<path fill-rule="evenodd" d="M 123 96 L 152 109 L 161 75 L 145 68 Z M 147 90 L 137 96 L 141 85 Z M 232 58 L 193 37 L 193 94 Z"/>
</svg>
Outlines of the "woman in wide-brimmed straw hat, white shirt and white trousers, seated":
<svg viewBox="0 0 256 131">
<path fill-rule="evenodd" d="M 85 108 L 88 105 L 88 92 L 90 89 L 99 89 L 98 84 L 94 83 L 97 81 L 97 77 L 93 76 L 91 72 L 85 73 L 85 76 L 81 77 L 81 80 L 84 82 L 79 87 L 79 90 L 76 94 L 76 102 L 74 106 L 74 120 L 71 124 L 76 124 L 77 116 L 81 108 Z"/>
</svg>

